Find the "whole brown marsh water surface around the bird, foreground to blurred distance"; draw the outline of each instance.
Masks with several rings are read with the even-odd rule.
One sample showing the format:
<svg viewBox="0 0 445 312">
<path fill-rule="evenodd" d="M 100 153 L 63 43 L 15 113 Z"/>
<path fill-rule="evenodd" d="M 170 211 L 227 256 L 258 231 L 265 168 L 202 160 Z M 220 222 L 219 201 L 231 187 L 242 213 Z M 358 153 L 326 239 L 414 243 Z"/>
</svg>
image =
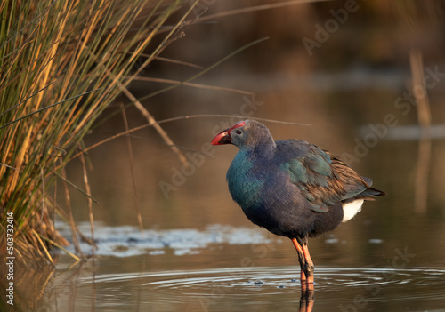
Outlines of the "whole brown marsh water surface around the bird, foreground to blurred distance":
<svg viewBox="0 0 445 312">
<path fill-rule="evenodd" d="M 320 5 L 333 5 L 337 10 L 340 2 L 332 3 Z M 283 11 L 275 12 L 278 15 L 271 12 L 271 16 L 295 20 L 295 14 L 306 15 L 308 11 L 304 10 L 307 7 L 302 12 L 289 9 L 290 18 Z M 329 7 L 318 12 L 328 14 Z M 411 44 L 404 42 L 409 41 L 407 37 L 400 36 L 406 33 L 403 19 L 394 19 L 393 25 L 382 18 L 384 23 L 376 25 L 367 22 L 367 14 L 360 12 L 314 50 L 312 57 L 297 45 L 301 45 L 303 36 L 313 36 L 316 20 L 307 20 L 306 28 L 298 28 L 295 46 L 286 41 L 277 47 L 274 44 L 279 45 L 279 39 L 274 39 L 273 27 L 280 28 L 280 23 L 262 24 L 255 21 L 261 16 L 249 16 L 258 33 L 243 37 L 244 28 L 239 27 L 236 18 L 221 21 L 210 29 L 215 34 L 205 33 L 206 38 L 225 38 L 222 34 L 231 29 L 237 33 L 232 34 L 237 48 L 259 36 L 271 35 L 271 43 L 258 46 L 199 82 L 253 93 L 182 87 L 143 104 L 158 120 L 216 113 L 312 124 L 267 125 L 276 140 L 308 140 L 343 156 L 352 168 L 372 178 L 374 186 L 387 193 L 376 202 L 365 203 L 356 218 L 334 232 L 310 241 L 315 263 L 313 311 L 444 311 L 443 74 L 436 76 L 436 84 L 428 89 L 432 140 L 420 140 L 417 106 L 407 98 Z M 388 15 L 383 14 L 385 18 Z M 296 29 L 284 19 L 283 23 L 286 29 Z M 360 28 L 362 23 L 366 27 Z M 264 25 L 272 28 L 272 34 L 263 33 Z M 418 40 L 425 44 L 425 70 L 445 73 L 443 43 L 437 39 L 437 32 L 417 30 L 416 38 L 425 39 Z M 197 29 L 190 29 L 191 37 L 194 31 L 198 39 L 203 36 Z M 227 47 L 233 45 L 230 40 L 191 42 L 207 44 L 203 51 L 213 52 L 211 55 L 221 52 L 225 56 L 234 50 Z M 387 46 L 378 45 L 382 43 Z M 203 57 L 198 52 L 193 59 L 187 54 L 195 51 L 192 48 L 186 45 L 181 49 L 179 45 L 172 50 L 185 53 L 184 57 L 198 64 L 200 57 L 203 62 L 217 60 L 216 56 L 204 53 Z M 344 53 L 349 56 L 342 57 Z M 172 57 L 182 59 L 178 54 Z M 165 71 L 159 73 L 164 75 Z M 145 95 L 144 88 L 148 88 L 146 84 L 137 83 L 132 92 Z M 130 127 L 145 123 L 134 108 L 129 108 L 127 115 Z M 18 272 L 23 278 L 17 285 L 14 308 L 298 311 L 301 292 L 293 245 L 286 238 L 253 226 L 231 201 L 225 172 L 236 148 L 208 146 L 214 132 L 232 122 L 231 118 L 202 118 L 163 124 L 175 143 L 190 148 L 184 149 L 192 164 L 189 170 L 169 148 L 159 144 L 152 129 L 135 132 L 132 142 L 137 199 L 125 138 L 91 150 L 93 171 L 89 179 L 92 194 L 101 203 L 94 206 L 94 238 L 98 245 L 94 260 L 76 264 L 60 254 L 55 270 Z M 86 145 L 123 129 L 121 116 L 115 116 L 95 129 L 86 138 Z M 82 185 L 77 162 L 70 164 L 68 173 L 70 180 Z M 76 191 L 71 196 L 75 220 L 89 235 L 85 196 Z M 137 227 L 138 209 L 145 228 L 142 233 Z M 60 229 L 69 237 L 68 228 L 60 225 Z M 73 251 L 72 246 L 69 249 Z M 82 249 L 92 253 L 86 244 Z"/>
</svg>

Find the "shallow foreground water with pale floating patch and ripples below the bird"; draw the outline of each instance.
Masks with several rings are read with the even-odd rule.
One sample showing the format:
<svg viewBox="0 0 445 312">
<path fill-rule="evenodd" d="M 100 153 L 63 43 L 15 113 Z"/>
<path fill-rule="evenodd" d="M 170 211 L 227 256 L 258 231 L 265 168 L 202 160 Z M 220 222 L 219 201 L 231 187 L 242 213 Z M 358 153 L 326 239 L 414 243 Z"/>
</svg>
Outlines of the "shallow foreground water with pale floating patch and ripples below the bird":
<svg viewBox="0 0 445 312">
<path fill-rule="evenodd" d="M 295 311 L 303 302 L 293 246 L 260 228 L 96 230 L 95 260 L 70 268 L 62 256 L 36 310 Z M 401 238 L 392 249 L 394 241 L 369 236 L 359 242 L 368 252 L 352 260 L 354 238 L 342 236 L 311 245 L 313 311 L 444 309 L 443 260 L 425 245 Z"/>
</svg>

